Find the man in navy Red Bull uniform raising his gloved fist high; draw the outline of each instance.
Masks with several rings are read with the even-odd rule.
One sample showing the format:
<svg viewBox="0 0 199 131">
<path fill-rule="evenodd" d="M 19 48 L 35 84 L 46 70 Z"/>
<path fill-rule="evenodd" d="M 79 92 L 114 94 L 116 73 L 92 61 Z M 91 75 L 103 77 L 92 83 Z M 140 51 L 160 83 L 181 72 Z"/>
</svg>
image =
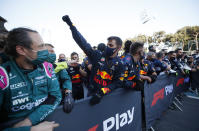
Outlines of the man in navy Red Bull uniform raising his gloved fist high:
<svg viewBox="0 0 199 131">
<path fill-rule="evenodd" d="M 74 40 L 91 60 L 92 71 L 90 83 L 96 90 L 90 100 L 90 104 L 97 104 L 105 94 L 122 86 L 124 71 L 121 60 L 117 56 L 118 51 L 122 47 L 122 40 L 116 36 L 109 37 L 106 51 L 100 53 L 92 49 L 91 45 L 87 43 L 85 38 L 72 24 L 68 15 L 63 16 L 62 19 L 70 26 Z"/>
</svg>

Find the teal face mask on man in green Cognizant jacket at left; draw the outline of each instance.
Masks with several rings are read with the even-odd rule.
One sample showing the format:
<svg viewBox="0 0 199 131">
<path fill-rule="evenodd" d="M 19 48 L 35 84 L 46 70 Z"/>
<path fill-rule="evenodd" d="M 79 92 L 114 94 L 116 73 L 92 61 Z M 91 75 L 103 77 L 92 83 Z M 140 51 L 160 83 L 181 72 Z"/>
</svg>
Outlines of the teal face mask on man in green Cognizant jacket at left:
<svg viewBox="0 0 199 131">
<path fill-rule="evenodd" d="M 40 50 L 40 51 L 37 51 L 37 58 L 32 60 L 31 62 L 34 65 L 39 65 L 39 64 L 44 63 L 46 60 L 48 60 L 48 58 L 49 58 L 48 50 Z"/>
</svg>

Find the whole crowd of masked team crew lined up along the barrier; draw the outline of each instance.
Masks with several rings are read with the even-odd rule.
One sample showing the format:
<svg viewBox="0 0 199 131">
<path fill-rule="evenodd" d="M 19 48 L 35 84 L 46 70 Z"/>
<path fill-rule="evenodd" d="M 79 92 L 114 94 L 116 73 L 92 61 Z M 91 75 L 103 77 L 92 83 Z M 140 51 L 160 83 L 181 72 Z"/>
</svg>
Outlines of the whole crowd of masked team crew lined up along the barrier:
<svg viewBox="0 0 199 131">
<path fill-rule="evenodd" d="M 16 121 L 4 130 L 53 129 L 57 123 L 42 121 L 58 105 L 70 113 L 74 102 L 85 96 L 91 97 L 90 105 L 94 106 L 117 88 L 143 91 L 144 82 L 153 83 L 159 75 L 180 71 L 190 76 L 199 71 L 199 51 L 193 55 L 180 48 L 156 52 L 150 46 L 145 53 L 143 43 L 127 40 L 124 53 L 118 56 L 121 38 L 110 36 L 106 45 L 93 48 L 69 16 L 62 19 L 86 54 L 82 63 L 76 52 L 71 53 L 70 61 L 59 54 L 56 62 L 54 45 L 44 43 L 35 30 L 15 28 L 0 35 L 1 123 Z M 195 90 L 197 85 L 192 87 Z"/>
</svg>

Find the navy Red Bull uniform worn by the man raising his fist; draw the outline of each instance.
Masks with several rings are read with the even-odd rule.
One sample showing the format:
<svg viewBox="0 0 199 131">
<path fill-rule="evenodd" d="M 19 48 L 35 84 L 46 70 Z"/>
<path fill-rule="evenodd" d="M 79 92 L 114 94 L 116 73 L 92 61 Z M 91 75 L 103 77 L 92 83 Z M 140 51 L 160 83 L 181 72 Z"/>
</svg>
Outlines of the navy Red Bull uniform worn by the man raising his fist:
<svg viewBox="0 0 199 131">
<path fill-rule="evenodd" d="M 69 25 L 76 43 L 86 53 L 92 64 L 90 83 L 104 94 L 122 86 L 123 65 L 119 57 L 106 58 L 105 53 L 93 50 L 76 27 Z M 100 92 L 101 92 L 100 91 Z"/>
</svg>

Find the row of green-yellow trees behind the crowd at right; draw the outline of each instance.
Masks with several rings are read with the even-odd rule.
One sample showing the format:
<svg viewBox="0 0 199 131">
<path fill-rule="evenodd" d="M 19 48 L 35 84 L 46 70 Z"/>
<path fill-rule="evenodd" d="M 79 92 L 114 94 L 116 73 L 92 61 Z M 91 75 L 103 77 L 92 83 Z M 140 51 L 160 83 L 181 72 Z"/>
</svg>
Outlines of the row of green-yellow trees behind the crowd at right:
<svg viewBox="0 0 199 131">
<path fill-rule="evenodd" d="M 171 42 L 171 43 L 182 43 L 183 49 L 197 49 L 199 48 L 199 26 L 185 26 L 176 31 L 174 34 L 166 34 L 165 31 L 154 32 L 153 36 L 146 36 L 139 34 L 138 36 L 130 39 L 132 42 Z M 189 44 L 188 44 L 189 43 Z M 191 45 L 190 45 L 191 44 Z M 193 44 L 193 45 L 192 45 Z M 188 49 L 189 48 L 189 49 Z"/>
</svg>

